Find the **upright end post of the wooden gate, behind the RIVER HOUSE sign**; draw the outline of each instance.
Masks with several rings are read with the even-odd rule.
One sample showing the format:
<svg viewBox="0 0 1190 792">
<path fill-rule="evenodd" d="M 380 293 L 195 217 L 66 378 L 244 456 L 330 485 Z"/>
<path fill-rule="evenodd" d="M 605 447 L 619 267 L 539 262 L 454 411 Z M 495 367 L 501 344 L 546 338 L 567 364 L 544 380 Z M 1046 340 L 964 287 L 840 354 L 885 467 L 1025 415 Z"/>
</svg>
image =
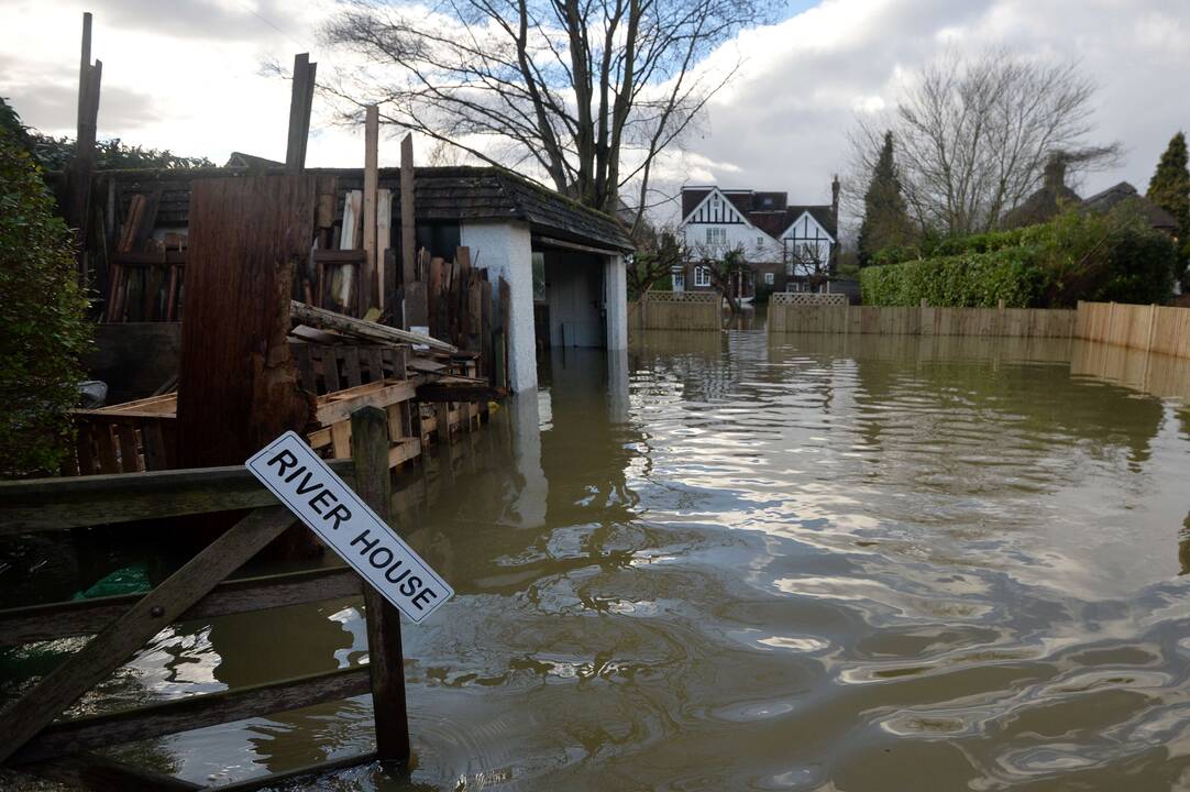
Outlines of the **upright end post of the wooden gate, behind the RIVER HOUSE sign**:
<svg viewBox="0 0 1190 792">
<path fill-rule="evenodd" d="M 393 485 L 388 469 L 388 414 L 380 407 L 361 407 L 352 412 L 351 445 L 356 493 L 390 525 Z M 368 585 L 364 586 L 364 607 L 377 754 L 382 762 L 405 763 L 409 761 L 409 716 L 405 706 L 401 615 Z"/>
</svg>

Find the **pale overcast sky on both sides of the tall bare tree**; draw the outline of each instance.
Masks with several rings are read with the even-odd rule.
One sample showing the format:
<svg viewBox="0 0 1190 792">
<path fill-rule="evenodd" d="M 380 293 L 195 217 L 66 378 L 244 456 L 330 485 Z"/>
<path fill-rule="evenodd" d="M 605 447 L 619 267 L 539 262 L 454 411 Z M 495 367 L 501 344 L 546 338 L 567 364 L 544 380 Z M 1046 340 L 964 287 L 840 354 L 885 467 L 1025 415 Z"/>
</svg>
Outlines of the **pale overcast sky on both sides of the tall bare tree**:
<svg viewBox="0 0 1190 792">
<path fill-rule="evenodd" d="M 100 137 L 205 155 L 284 158 L 288 83 L 261 74 L 308 50 L 334 63 L 314 33 L 332 0 L 0 0 L 0 95 L 26 124 L 73 135 L 79 36 L 95 14 L 104 61 Z M 744 32 L 741 73 L 712 104 L 672 183 L 784 189 L 791 202 L 829 200 L 845 170 L 857 112 L 890 107 L 903 75 L 951 49 L 1008 46 L 1075 57 L 1101 86 L 1096 137 L 1119 141 L 1121 166 L 1084 193 L 1120 180 L 1144 191 L 1178 129 L 1190 129 L 1190 0 L 794 0 L 789 18 Z M 319 76 L 322 76 L 320 71 Z M 362 136 L 331 123 L 315 100 L 307 162 L 359 167 Z M 395 164 L 395 141 L 381 164 Z"/>
</svg>

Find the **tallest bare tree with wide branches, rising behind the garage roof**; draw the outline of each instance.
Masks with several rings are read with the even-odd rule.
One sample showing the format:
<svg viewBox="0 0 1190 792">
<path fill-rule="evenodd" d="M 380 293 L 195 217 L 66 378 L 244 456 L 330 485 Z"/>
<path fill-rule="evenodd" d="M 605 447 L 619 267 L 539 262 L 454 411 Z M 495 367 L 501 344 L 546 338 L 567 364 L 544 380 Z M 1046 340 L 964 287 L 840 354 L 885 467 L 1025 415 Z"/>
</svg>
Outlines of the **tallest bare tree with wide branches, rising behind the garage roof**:
<svg viewBox="0 0 1190 792">
<path fill-rule="evenodd" d="M 325 38 L 381 68 L 327 87 L 608 213 L 632 186 L 639 224 L 654 158 L 738 67 L 697 64 L 772 2 L 353 0 Z"/>
</svg>

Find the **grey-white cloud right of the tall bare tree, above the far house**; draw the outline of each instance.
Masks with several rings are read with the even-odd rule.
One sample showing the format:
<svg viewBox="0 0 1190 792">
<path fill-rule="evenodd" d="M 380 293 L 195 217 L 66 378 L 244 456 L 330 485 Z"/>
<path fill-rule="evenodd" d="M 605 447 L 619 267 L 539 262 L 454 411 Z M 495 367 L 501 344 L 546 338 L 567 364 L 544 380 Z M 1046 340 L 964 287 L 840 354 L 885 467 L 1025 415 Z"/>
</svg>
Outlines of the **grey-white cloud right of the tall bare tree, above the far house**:
<svg viewBox="0 0 1190 792">
<path fill-rule="evenodd" d="M 826 0 L 740 37 L 752 55 L 688 142 L 700 155 L 690 181 L 709 173 L 728 187 L 827 200 L 857 111 L 894 107 L 904 75 L 948 48 L 1003 46 L 1081 62 L 1102 86 L 1096 138 L 1127 149 L 1085 189 L 1144 189 L 1169 138 L 1190 127 L 1190 105 L 1170 100 L 1190 73 L 1188 19 L 1185 0 Z"/>
</svg>

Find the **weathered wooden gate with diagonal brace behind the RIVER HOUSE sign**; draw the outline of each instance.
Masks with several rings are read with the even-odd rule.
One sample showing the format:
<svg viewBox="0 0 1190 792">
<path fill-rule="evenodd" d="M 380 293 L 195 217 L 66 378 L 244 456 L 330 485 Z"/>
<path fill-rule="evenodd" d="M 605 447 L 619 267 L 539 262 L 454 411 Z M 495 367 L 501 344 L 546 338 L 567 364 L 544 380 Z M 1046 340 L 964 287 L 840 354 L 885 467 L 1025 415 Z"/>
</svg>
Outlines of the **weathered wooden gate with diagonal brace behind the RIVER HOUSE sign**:
<svg viewBox="0 0 1190 792">
<path fill-rule="evenodd" d="M 390 522 L 388 414 L 377 407 L 364 407 L 351 414 L 351 424 L 353 460 L 336 461 L 332 467 L 353 480 L 361 498 L 382 519 Z M 300 772 L 375 759 L 408 759 L 400 617 L 392 605 L 346 567 L 225 580 L 296 522 L 246 468 L 0 482 L 0 535 L 7 536 L 90 525 L 129 526 L 144 519 L 243 509 L 252 511 L 148 594 L 0 611 L 0 646 L 95 636 L 0 713 L 5 724 L 0 734 L 0 763 L 88 788 L 196 790 L 201 787 L 92 752 L 369 691 L 376 722 L 376 752 Z M 112 713 L 58 719 L 171 623 L 361 592 L 367 604 L 370 655 L 367 666 Z M 220 788 L 271 786 L 294 774 L 296 772 L 273 774 Z"/>
</svg>

